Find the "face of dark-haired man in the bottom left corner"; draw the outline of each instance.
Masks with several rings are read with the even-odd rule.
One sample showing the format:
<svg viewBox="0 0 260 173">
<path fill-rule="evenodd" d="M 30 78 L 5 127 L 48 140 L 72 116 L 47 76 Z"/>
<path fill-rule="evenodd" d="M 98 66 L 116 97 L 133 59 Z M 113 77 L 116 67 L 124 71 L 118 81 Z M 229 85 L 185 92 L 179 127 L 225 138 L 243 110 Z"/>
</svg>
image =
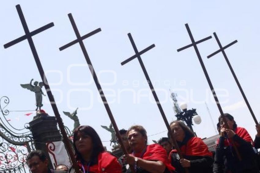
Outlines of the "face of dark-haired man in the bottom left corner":
<svg viewBox="0 0 260 173">
<path fill-rule="evenodd" d="M 47 173 L 48 159 L 42 161 L 39 156 L 33 156 L 27 161 L 28 167 L 32 173 Z"/>
</svg>

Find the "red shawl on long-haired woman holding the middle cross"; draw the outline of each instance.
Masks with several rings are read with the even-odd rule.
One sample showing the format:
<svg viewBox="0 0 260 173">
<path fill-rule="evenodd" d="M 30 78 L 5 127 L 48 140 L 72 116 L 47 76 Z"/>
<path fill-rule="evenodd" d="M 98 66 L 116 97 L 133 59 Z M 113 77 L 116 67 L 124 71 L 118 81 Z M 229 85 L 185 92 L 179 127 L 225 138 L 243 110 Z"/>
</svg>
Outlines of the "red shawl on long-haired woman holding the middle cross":
<svg viewBox="0 0 260 173">
<path fill-rule="evenodd" d="M 209 151 L 208 146 L 202 141 L 201 138 L 192 137 L 188 140 L 186 145 L 180 147 L 182 155 L 185 156 L 210 156 L 212 153 Z M 169 154 L 169 160 L 171 161 L 172 153 L 177 153 L 176 149 L 173 149 Z"/>
</svg>

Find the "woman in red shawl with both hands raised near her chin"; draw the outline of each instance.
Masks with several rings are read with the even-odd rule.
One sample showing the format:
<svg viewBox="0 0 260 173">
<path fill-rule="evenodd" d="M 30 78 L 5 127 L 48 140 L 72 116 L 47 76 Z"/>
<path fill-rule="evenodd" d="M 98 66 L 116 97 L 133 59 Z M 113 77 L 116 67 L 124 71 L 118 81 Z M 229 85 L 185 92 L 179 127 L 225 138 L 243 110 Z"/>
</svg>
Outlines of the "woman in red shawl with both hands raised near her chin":
<svg viewBox="0 0 260 173">
<path fill-rule="evenodd" d="M 224 118 L 229 129 L 224 124 L 223 117 L 220 116 L 218 118 L 220 138 L 217 141 L 213 172 L 258 173 L 251 136 L 245 128 L 237 127 L 232 115 L 225 113 Z M 240 156 L 237 155 L 234 145 Z"/>
</svg>

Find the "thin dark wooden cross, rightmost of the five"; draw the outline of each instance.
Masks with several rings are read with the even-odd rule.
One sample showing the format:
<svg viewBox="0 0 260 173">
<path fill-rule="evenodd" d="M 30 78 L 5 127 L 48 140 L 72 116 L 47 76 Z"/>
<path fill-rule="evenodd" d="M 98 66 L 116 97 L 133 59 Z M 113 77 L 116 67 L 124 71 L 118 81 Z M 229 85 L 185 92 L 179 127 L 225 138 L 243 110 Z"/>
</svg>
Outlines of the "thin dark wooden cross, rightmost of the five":
<svg viewBox="0 0 260 173">
<path fill-rule="evenodd" d="M 235 43 L 237 42 L 237 40 L 235 40 L 235 41 L 229 43 L 228 45 L 226 45 L 226 46 L 224 46 L 224 47 L 222 47 L 222 45 L 221 45 L 221 43 L 220 43 L 220 41 L 219 41 L 219 39 L 218 39 L 218 37 L 217 37 L 216 32 L 214 32 L 213 34 L 214 34 L 214 36 L 215 36 L 215 39 L 217 40 L 217 44 L 218 44 L 218 46 L 219 46 L 220 49 L 217 50 L 216 52 L 210 54 L 210 55 L 207 56 L 207 57 L 210 58 L 210 57 L 213 57 L 214 55 L 216 55 L 217 53 L 222 52 L 222 54 L 223 54 L 225 60 L 227 61 L 228 67 L 229 67 L 229 69 L 230 69 L 230 71 L 231 71 L 231 73 L 232 73 L 232 75 L 233 75 L 233 77 L 234 77 L 234 79 L 235 79 L 235 81 L 236 81 L 236 84 L 237 84 L 237 86 L 238 86 L 238 88 L 239 88 L 239 90 L 240 90 L 240 92 L 241 92 L 241 94 L 242 94 L 242 96 L 243 96 L 243 98 L 244 98 L 246 104 L 247 104 L 247 107 L 248 107 L 248 109 L 249 109 L 249 111 L 250 111 L 250 113 L 251 113 L 253 119 L 254 119 L 254 122 L 255 122 L 256 124 L 258 124 L 258 121 L 256 120 L 256 117 L 254 116 L 254 112 L 253 112 L 253 110 L 252 110 L 252 108 L 251 108 L 251 106 L 250 106 L 250 104 L 249 104 L 249 102 L 248 102 L 248 100 L 247 100 L 247 97 L 246 97 L 246 95 L 245 95 L 245 93 L 244 93 L 244 91 L 243 91 L 243 89 L 242 89 L 242 87 L 241 87 L 241 85 L 240 85 L 240 83 L 239 83 L 239 81 L 238 81 L 238 79 L 237 79 L 237 77 L 236 77 L 236 74 L 235 74 L 235 72 L 234 72 L 234 70 L 233 70 L 233 68 L 232 68 L 232 66 L 231 66 L 231 64 L 230 64 L 230 62 L 229 62 L 229 60 L 228 60 L 228 57 L 227 57 L 227 55 L 226 55 L 226 53 L 225 53 L 225 49 L 227 49 L 229 46 L 232 46 L 233 44 L 235 44 Z"/>
</svg>

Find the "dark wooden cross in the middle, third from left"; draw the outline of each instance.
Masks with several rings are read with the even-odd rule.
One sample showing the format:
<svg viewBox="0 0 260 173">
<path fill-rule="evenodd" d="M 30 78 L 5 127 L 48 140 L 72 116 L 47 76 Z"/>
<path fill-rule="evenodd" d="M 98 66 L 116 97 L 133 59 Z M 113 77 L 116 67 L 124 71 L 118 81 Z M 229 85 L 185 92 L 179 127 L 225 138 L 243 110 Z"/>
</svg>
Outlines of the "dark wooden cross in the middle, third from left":
<svg viewBox="0 0 260 173">
<path fill-rule="evenodd" d="M 175 138 L 173 137 L 173 135 L 172 135 L 172 131 L 171 131 L 171 128 L 170 128 L 170 126 L 169 126 L 168 120 L 167 120 L 167 118 L 166 118 L 166 116 L 165 116 L 165 113 L 164 113 L 164 111 L 163 111 L 163 109 L 162 109 L 162 105 L 161 105 L 161 103 L 160 103 L 160 101 L 159 101 L 159 99 L 158 99 L 158 97 L 157 97 L 157 94 L 156 94 L 156 92 L 155 92 L 155 90 L 154 90 L 154 86 L 153 86 L 153 84 L 152 84 L 152 82 L 151 82 L 151 80 L 150 80 L 150 77 L 149 77 L 149 75 L 148 75 L 148 73 L 147 73 L 147 71 L 146 71 L 146 68 L 145 68 L 145 66 L 144 66 L 144 64 L 143 64 L 143 61 L 142 61 L 142 59 L 141 59 L 141 56 L 140 56 L 140 55 L 142 55 L 143 53 L 147 52 L 148 50 L 154 48 L 155 45 L 152 44 L 152 45 L 148 46 L 147 48 L 145 48 L 144 50 L 138 52 L 137 47 L 136 47 L 136 44 L 135 44 L 135 42 L 134 42 L 134 40 L 133 40 L 133 38 L 132 38 L 131 33 L 128 33 L 128 37 L 129 37 L 129 39 L 130 39 L 130 42 L 131 42 L 131 44 L 132 44 L 132 46 L 133 46 L 133 48 L 134 48 L 136 54 L 133 55 L 132 57 L 128 58 L 127 60 L 121 62 L 121 65 L 124 65 L 124 64 L 126 64 L 126 63 L 132 61 L 133 59 L 135 59 L 135 58 L 137 57 L 137 59 L 138 59 L 140 65 L 141 65 L 141 68 L 142 68 L 142 70 L 143 70 L 143 73 L 144 73 L 144 75 L 145 75 L 145 78 L 146 78 L 146 80 L 147 80 L 147 82 L 148 82 L 148 84 L 149 84 L 149 87 L 150 87 L 151 91 L 152 91 L 152 94 L 153 94 L 153 96 L 154 96 L 154 99 L 155 99 L 155 101 L 156 101 L 156 104 L 157 104 L 157 106 L 158 106 L 158 108 L 159 108 L 159 111 L 160 111 L 160 113 L 161 113 L 161 115 L 162 115 L 162 119 L 164 120 L 164 123 L 165 123 L 165 125 L 166 125 L 166 127 L 167 127 L 167 129 L 168 129 L 168 131 L 169 131 L 169 134 L 171 135 L 171 138 L 173 139 L 173 144 L 174 144 L 174 146 L 176 147 L 178 154 L 179 154 L 179 155 L 181 156 L 181 158 L 182 158 L 183 156 L 182 156 L 182 154 L 181 154 L 181 152 L 180 152 L 180 148 L 179 148 L 178 145 L 177 145 L 176 139 L 175 139 Z M 187 169 L 185 169 L 185 171 L 188 172 Z"/>
</svg>

